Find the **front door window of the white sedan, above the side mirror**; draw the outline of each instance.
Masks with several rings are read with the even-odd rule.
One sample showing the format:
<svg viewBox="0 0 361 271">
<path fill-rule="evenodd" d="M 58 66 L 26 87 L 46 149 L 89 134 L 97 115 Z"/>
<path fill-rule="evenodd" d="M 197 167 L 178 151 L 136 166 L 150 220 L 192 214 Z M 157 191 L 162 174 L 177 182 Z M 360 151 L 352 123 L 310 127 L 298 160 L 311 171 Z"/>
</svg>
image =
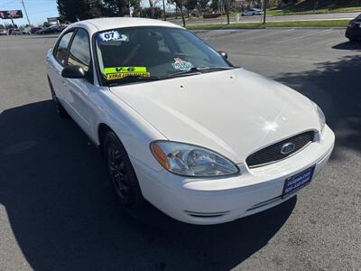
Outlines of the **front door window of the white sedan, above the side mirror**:
<svg viewBox="0 0 361 271">
<path fill-rule="evenodd" d="M 90 68 L 90 42 L 88 33 L 84 29 L 79 29 L 70 45 L 68 65 L 76 65 L 86 72 Z"/>
</svg>

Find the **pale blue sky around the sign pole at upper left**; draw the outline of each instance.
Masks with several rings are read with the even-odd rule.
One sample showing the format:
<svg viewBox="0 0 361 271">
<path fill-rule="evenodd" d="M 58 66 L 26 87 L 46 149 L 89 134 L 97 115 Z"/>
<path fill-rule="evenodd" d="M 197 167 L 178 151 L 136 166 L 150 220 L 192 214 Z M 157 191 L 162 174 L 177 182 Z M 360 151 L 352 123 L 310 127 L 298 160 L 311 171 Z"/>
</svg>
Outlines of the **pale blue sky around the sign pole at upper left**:
<svg viewBox="0 0 361 271">
<path fill-rule="evenodd" d="M 46 21 L 48 17 L 58 17 L 56 0 L 23 0 L 26 11 L 29 15 L 30 23 L 38 24 Z M 21 9 L 23 5 L 21 0 L 0 0 L 0 10 Z M 11 23 L 10 20 L 0 19 L 1 24 Z M 14 19 L 14 23 L 21 25 L 26 24 L 26 15 L 23 11 L 22 19 Z"/>
</svg>

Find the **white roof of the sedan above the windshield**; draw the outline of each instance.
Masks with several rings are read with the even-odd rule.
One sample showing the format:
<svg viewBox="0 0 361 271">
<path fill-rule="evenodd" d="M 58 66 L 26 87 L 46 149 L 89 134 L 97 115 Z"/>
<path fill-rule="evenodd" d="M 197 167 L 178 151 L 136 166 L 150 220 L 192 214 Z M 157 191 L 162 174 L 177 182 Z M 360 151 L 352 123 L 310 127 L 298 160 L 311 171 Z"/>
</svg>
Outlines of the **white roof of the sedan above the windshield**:
<svg viewBox="0 0 361 271">
<path fill-rule="evenodd" d="M 135 17 L 110 17 L 110 18 L 97 18 L 77 23 L 71 23 L 68 27 L 82 27 L 88 29 L 89 33 L 104 31 L 107 29 L 122 28 L 122 27 L 139 27 L 139 26 L 163 26 L 163 27 L 177 27 L 182 28 L 180 25 L 169 23 L 161 20 L 135 18 Z"/>
</svg>

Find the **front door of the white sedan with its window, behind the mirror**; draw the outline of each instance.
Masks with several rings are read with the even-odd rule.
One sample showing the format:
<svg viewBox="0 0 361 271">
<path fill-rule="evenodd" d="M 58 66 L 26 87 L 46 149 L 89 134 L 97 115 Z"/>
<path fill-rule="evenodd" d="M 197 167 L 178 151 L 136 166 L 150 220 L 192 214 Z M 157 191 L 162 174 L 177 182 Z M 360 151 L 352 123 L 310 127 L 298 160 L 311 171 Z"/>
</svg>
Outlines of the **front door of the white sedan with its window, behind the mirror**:
<svg viewBox="0 0 361 271">
<path fill-rule="evenodd" d="M 79 28 L 69 45 L 66 65 L 81 67 L 86 74 L 84 79 L 63 79 L 64 98 L 71 107 L 74 120 L 91 135 L 95 119 L 91 97 L 97 91 L 93 79 L 93 61 L 91 60 L 90 39 L 88 32 Z"/>
</svg>

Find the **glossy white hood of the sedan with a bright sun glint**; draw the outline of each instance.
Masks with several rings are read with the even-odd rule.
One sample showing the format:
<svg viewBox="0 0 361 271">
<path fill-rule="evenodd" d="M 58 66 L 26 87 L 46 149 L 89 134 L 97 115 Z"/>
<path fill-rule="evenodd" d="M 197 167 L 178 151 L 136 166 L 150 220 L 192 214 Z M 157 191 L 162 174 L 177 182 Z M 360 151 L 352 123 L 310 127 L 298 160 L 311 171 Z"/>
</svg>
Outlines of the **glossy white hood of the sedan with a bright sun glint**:
<svg viewBox="0 0 361 271">
<path fill-rule="evenodd" d="M 110 89 L 169 140 L 207 147 L 236 164 L 266 145 L 319 130 L 309 98 L 245 69 Z"/>
</svg>

